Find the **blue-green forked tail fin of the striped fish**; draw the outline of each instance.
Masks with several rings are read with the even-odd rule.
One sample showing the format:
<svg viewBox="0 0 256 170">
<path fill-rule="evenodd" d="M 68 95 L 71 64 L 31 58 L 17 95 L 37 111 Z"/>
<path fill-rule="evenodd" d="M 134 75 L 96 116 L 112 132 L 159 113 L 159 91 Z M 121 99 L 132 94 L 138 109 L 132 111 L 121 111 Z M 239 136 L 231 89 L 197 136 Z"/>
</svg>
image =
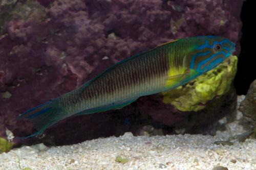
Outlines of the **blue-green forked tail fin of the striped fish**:
<svg viewBox="0 0 256 170">
<path fill-rule="evenodd" d="M 29 109 L 17 117 L 17 119 L 22 118 L 31 119 L 35 128 L 38 130 L 29 136 L 17 137 L 19 139 L 27 139 L 42 134 L 48 127 L 65 118 L 65 113 L 61 113 L 57 99 L 54 99 L 50 102 Z"/>
</svg>

